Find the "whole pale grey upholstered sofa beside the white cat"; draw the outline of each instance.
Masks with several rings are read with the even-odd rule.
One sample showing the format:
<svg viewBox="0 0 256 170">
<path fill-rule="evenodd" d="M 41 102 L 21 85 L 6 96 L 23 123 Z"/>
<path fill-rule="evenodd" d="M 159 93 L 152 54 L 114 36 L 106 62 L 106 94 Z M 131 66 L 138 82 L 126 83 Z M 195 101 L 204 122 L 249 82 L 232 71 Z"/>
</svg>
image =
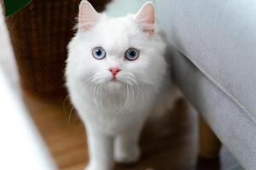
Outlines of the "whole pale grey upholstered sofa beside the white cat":
<svg viewBox="0 0 256 170">
<path fill-rule="evenodd" d="M 256 1 L 157 0 L 189 102 L 247 170 L 256 169 Z"/>
</svg>

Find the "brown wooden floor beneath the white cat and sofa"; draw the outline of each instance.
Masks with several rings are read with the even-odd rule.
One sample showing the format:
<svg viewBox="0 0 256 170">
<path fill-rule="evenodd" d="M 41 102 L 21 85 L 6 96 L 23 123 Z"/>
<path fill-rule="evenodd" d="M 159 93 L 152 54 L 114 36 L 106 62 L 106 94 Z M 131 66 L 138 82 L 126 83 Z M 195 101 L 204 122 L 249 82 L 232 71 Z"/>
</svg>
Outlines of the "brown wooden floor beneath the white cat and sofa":
<svg viewBox="0 0 256 170">
<path fill-rule="evenodd" d="M 57 166 L 62 170 L 84 169 L 88 161 L 84 127 L 68 99 L 38 99 L 24 94 L 24 100 Z M 174 111 L 148 121 L 141 138 L 141 160 L 130 166 L 117 165 L 115 170 L 240 170 L 227 150 L 222 161 L 196 163 L 196 122 L 195 111 L 179 100 Z"/>
</svg>

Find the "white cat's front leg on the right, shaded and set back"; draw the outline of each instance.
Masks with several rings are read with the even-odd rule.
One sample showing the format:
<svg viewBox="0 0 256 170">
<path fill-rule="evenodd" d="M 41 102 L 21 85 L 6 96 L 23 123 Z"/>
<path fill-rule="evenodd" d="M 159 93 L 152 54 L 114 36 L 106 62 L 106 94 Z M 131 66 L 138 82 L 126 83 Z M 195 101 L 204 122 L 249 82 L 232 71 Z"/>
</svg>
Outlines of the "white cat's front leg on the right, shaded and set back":
<svg viewBox="0 0 256 170">
<path fill-rule="evenodd" d="M 119 134 L 114 141 L 114 160 L 119 163 L 132 163 L 141 156 L 139 137 L 143 123 L 131 127 L 126 132 Z"/>
</svg>

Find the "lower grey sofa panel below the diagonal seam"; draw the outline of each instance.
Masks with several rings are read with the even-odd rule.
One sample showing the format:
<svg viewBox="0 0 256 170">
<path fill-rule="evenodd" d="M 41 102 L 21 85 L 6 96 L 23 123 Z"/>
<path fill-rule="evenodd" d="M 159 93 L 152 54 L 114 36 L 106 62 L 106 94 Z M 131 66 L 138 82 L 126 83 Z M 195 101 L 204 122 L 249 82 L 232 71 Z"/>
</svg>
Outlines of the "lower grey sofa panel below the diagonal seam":
<svg viewBox="0 0 256 170">
<path fill-rule="evenodd" d="M 174 78 L 185 97 L 201 113 L 241 166 L 255 170 L 254 122 L 183 54 L 173 55 L 172 61 Z"/>
</svg>

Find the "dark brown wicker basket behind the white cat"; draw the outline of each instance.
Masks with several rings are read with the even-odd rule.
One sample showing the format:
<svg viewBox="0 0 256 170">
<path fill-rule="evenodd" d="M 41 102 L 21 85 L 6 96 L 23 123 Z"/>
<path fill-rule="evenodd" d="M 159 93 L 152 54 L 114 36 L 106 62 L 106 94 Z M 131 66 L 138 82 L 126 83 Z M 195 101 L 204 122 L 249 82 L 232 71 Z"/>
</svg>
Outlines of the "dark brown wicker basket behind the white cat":
<svg viewBox="0 0 256 170">
<path fill-rule="evenodd" d="M 6 18 L 20 82 L 36 94 L 62 94 L 67 42 L 80 0 L 32 0 Z M 101 11 L 108 0 L 90 1 Z"/>
</svg>

